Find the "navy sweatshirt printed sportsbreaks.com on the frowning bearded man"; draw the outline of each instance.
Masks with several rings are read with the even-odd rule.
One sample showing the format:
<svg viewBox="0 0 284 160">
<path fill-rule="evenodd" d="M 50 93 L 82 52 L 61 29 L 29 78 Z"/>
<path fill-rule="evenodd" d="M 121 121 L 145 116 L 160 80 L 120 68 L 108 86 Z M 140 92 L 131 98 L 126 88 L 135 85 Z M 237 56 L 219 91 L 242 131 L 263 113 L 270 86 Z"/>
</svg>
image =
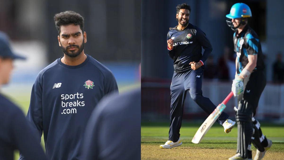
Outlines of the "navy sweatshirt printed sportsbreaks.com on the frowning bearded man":
<svg viewBox="0 0 284 160">
<path fill-rule="evenodd" d="M 113 73 L 89 55 L 77 66 L 60 59 L 38 74 L 27 119 L 38 138 L 43 133 L 48 159 L 83 160 L 80 148 L 87 121 L 97 103 L 118 86 Z"/>
</svg>

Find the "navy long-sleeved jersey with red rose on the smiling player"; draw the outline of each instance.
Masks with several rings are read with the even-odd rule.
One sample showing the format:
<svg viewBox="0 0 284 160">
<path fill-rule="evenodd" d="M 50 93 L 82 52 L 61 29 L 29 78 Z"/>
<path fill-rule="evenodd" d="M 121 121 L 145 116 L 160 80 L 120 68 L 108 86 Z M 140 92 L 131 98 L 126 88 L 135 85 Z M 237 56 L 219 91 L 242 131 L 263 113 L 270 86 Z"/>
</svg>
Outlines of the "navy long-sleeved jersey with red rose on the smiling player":
<svg viewBox="0 0 284 160">
<path fill-rule="evenodd" d="M 174 40 L 174 48 L 171 50 L 168 48 L 168 54 L 174 60 L 176 73 L 190 70 L 190 62 L 201 61 L 203 65 L 212 52 L 212 46 L 206 34 L 190 23 L 183 30 L 169 30 L 167 40 L 169 39 Z M 202 47 L 204 49 L 203 55 Z"/>
</svg>

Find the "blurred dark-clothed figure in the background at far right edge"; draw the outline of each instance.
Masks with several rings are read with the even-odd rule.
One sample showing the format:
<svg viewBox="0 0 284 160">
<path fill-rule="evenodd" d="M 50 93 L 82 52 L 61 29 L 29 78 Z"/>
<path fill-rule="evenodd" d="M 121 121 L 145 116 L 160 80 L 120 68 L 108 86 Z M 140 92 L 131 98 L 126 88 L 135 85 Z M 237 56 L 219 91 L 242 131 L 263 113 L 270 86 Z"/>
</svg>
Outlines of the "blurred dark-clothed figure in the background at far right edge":
<svg viewBox="0 0 284 160">
<path fill-rule="evenodd" d="M 284 62 L 282 61 L 282 54 L 278 52 L 276 61 L 273 63 L 273 81 L 278 83 L 284 82 Z"/>
</svg>

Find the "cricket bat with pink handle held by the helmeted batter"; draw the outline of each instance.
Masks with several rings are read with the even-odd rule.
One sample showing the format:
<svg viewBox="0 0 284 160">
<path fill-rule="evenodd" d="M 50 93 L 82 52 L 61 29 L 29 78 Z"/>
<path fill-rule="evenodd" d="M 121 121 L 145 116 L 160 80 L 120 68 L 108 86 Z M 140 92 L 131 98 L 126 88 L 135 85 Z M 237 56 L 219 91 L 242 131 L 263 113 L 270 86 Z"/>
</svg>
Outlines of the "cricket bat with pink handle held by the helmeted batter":
<svg viewBox="0 0 284 160">
<path fill-rule="evenodd" d="M 233 97 L 233 92 L 231 92 L 225 100 L 221 104 L 219 104 L 216 109 L 208 116 L 208 118 L 203 122 L 203 124 L 199 127 L 193 139 L 192 143 L 198 144 L 211 126 L 216 122 L 216 119 L 220 116 L 223 110 L 226 108 L 227 102 Z"/>
</svg>

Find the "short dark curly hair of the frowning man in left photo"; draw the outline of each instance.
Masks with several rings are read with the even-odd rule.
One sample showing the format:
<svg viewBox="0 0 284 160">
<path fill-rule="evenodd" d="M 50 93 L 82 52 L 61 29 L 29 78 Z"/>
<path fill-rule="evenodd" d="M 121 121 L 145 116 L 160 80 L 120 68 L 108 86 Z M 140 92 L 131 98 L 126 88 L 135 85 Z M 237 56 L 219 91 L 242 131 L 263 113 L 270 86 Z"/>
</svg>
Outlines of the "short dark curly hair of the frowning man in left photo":
<svg viewBox="0 0 284 160">
<path fill-rule="evenodd" d="M 84 17 L 74 11 L 65 11 L 55 14 L 54 22 L 59 35 L 60 26 L 67 24 L 80 25 L 82 32 L 84 32 Z"/>
</svg>

